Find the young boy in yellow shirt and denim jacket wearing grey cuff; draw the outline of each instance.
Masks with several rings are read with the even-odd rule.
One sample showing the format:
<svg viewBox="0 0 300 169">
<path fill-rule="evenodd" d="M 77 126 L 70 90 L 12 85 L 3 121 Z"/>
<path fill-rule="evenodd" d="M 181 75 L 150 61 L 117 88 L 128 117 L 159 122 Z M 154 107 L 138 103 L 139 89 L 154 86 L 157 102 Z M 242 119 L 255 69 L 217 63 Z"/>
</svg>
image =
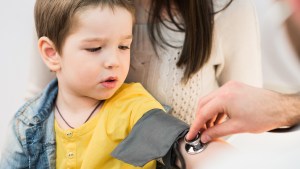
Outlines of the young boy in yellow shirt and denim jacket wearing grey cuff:
<svg viewBox="0 0 300 169">
<path fill-rule="evenodd" d="M 128 0 L 36 1 L 38 48 L 57 79 L 15 115 L 0 168 L 174 165 L 171 146 L 188 126 L 140 84 L 123 83 L 133 22 Z"/>
</svg>

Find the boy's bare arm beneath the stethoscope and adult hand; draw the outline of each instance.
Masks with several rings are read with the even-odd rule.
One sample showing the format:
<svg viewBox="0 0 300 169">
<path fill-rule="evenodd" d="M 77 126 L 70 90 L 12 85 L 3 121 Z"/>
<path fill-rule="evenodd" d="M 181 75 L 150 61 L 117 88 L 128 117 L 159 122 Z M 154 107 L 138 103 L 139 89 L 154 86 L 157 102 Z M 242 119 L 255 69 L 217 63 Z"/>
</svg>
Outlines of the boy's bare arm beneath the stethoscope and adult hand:
<svg viewBox="0 0 300 169">
<path fill-rule="evenodd" d="M 185 142 L 183 139 L 179 142 L 179 149 L 185 160 L 187 169 L 199 169 L 204 166 L 213 165 L 211 162 L 224 159 L 223 154 L 228 157 L 235 152 L 235 149 L 231 145 L 221 139 L 215 139 L 208 143 L 205 150 L 199 154 L 188 154 L 185 151 Z M 179 160 L 177 160 L 176 165 L 181 167 Z"/>
</svg>

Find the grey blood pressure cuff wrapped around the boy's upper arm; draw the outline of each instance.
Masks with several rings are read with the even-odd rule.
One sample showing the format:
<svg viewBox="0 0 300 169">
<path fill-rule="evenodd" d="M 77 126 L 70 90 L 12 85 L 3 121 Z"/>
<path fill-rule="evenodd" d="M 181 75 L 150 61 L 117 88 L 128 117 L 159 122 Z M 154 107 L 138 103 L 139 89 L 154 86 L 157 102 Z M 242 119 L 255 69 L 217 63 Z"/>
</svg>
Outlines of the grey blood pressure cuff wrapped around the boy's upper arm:
<svg viewBox="0 0 300 169">
<path fill-rule="evenodd" d="M 138 120 L 111 155 L 139 167 L 159 158 L 163 158 L 167 167 L 172 166 L 177 154 L 173 149 L 177 148 L 178 140 L 184 137 L 188 129 L 186 123 L 163 110 L 150 110 Z"/>
</svg>

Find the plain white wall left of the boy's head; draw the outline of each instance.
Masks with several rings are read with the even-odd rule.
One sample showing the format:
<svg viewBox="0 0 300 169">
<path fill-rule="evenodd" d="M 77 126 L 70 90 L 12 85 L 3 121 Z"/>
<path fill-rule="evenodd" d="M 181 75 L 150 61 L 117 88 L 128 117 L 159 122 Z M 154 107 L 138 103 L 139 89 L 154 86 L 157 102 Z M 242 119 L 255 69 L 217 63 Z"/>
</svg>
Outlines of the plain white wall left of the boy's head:
<svg viewBox="0 0 300 169">
<path fill-rule="evenodd" d="M 0 0 L 0 145 L 24 98 L 27 60 L 34 49 L 34 2 Z"/>
</svg>

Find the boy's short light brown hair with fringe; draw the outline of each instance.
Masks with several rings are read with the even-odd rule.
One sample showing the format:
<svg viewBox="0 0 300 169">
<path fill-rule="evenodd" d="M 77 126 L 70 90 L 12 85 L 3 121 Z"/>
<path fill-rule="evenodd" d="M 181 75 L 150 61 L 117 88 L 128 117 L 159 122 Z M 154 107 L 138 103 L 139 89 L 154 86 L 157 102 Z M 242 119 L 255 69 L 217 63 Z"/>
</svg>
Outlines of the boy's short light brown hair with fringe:
<svg viewBox="0 0 300 169">
<path fill-rule="evenodd" d="M 46 36 L 61 53 L 62 46 L 71 26 L 74 15 L 90 6 L 122 7 L 134 17 L 132 0 L 37 0 L 34 8 L 35 27 L 38 37 Z"/>
</svg>

